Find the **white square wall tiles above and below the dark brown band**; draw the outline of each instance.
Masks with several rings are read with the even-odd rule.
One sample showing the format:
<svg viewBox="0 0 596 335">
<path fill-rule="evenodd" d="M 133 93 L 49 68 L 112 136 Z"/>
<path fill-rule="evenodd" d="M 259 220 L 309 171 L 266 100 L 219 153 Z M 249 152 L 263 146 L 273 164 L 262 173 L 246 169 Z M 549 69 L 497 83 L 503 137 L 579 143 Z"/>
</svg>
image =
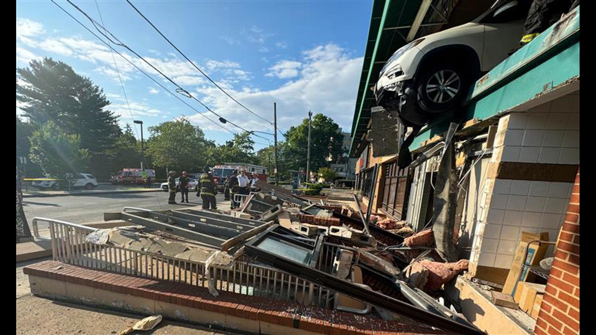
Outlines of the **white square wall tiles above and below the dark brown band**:
<svg viewBox="0 0 596 335">
<path fill-rule="evenodd" d="M 501 162 L 579 164 L 579 94 L 502 117 L 498 137 L 491 162 L 500 158 Z M 484 190 L 490 191 L 488 181 Z M 471 259 L 479 265 L 510 268 L 522 231 L 546 231 L 550 240 L 556 240 L 572 187 L 572 183 L 496 179 L 492 194 L 479 196 L 486 216 L 478 218 L 483 222 L 477 225 Z"/>
</svg>

